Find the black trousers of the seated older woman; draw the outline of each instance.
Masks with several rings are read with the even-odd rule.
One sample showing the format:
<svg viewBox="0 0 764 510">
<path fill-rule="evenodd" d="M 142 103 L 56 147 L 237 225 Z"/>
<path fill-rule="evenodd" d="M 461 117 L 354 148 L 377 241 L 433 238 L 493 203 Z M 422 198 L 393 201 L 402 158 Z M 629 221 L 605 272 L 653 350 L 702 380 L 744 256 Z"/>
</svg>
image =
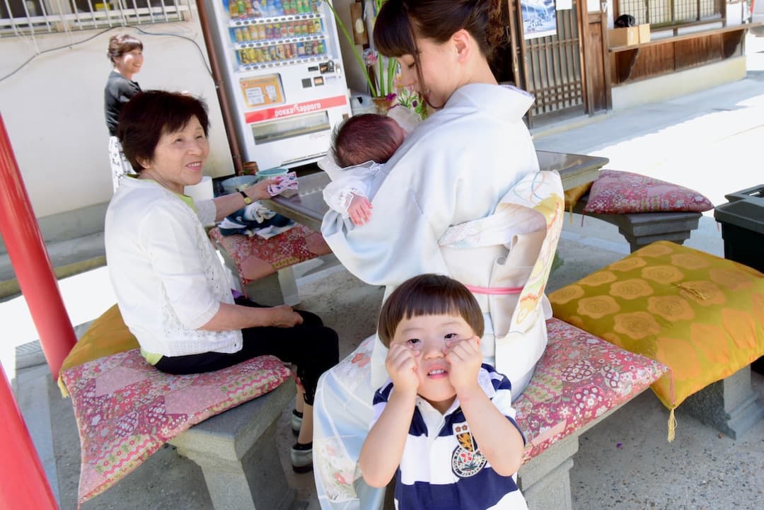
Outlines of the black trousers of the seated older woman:
<svg viewBox="0 0 764 510">
<path fill-rule="evenodd" d="M 237 298 L 237 305 L 267 308 L 246 298 Z M 235 353 L 200 353 L 187 356 L 163 356 L 158 370 L 175 375 L 212 372 L 257 356 L 271 354 L 297 366 L 297 376 L 305 388 L 305 403 L 313 405 L 319 376 L 339 361 L 337 333 L 323 325 L 318 315 L 296 310 L 303 324 L 293 328 L 244 328 L 241 350 Z"/>
</svg>

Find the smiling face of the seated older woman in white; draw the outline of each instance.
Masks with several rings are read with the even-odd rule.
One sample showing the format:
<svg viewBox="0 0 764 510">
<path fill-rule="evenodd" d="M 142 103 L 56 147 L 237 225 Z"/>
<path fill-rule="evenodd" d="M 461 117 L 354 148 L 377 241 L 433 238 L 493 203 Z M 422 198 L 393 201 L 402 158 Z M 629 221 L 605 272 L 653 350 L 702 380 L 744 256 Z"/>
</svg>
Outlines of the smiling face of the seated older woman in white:
<svg viewBox="0 0 764 510">
<path fill-rule="evenodd" d="M 182 194 L 184 186 L 201 182 L 202 165 L 208 155 L 209 141 L 194 116 L 179 131 L 162 133 L 154 157 L 145 165 L 141 176 Z"/>
</svg>

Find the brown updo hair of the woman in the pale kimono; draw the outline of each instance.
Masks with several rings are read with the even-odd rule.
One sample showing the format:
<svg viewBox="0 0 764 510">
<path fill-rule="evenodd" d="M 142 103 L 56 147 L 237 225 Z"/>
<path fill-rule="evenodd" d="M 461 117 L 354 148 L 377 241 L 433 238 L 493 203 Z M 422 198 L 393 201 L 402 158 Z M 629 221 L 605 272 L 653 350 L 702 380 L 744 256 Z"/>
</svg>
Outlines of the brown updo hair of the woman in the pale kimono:
<svg viewBox="0 0 764 510">
<path fill-rule="evenodd" d="M 374 26 L 374 46 L 385 56 L 412 55 L 414 37 L 443 44 L 464 28 L 490 60 L 505 38 L 500 0 L 387 0 Z"/>
</svg>

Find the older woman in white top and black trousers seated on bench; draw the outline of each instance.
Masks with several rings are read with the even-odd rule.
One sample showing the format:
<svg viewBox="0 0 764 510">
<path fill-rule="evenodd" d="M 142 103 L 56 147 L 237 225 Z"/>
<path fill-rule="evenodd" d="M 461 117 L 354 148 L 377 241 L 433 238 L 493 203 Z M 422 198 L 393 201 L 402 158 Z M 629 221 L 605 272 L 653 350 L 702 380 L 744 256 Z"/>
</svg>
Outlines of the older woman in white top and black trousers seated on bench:
<svg viewBox="0 0 764 510">
<path fill-rule="evenodd" d="M 275 181 L 200 202 L 183 195 L 202 180 L 208 125 L 205 105 L 189 95 L 143 92 L 122 109 L 118 137 L 138 176 L 122 179 L 106 211 L 112 286 L 141 352 L 163 372 L 209 372 L 264 354 L 296 364 L 305 418 L 291 456 L 306 472 L 313 396 L 337 363 L 337 334 L 309 312 L 234 299 L 203 225 L 266 198 Z"/>
</svg>

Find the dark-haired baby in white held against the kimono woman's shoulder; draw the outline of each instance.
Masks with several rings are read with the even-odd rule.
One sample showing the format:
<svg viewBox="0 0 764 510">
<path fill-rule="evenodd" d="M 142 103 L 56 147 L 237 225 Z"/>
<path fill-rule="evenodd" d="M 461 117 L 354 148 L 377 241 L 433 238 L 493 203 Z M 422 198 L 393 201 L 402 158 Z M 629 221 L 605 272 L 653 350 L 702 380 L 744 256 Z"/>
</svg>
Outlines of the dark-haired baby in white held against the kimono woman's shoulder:
<svg viewBox="0 0 764 510">
<path fill-rule="evenodd" d="M 385 115 L 354 115 L 340 124 L 332 136 L 331 152 L 343 170 L 324 188 L 324 200 L 329 207 L 349 217 L 353 224 L 369 221 L 371 181 L 405 137 L 403 127 Z"/>
</svg>

